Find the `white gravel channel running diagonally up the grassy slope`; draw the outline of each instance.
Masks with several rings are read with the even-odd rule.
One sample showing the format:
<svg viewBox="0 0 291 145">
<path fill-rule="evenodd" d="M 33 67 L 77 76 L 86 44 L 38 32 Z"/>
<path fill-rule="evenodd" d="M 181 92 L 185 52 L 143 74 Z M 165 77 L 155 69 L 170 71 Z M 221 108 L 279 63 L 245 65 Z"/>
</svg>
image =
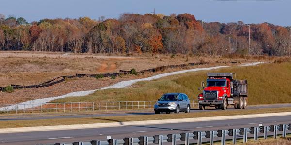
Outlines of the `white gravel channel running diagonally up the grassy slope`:
<svg viewBox="0 0 291 145">
<path fill-rule="evenodd" d="M 254 65 L 261 64 L 261 63 L 265 63 L 265 62 L 244 63 L 242 65 L 239 65 L 239 67 L 242 67 L 242 66 L 254 66 Z M 68 93 L 68 94 L 65 94 L 65 95 L 62 95 L 62 96 L 49 97 L 49 98 L 43 98 L 43 99 L 35 99 L 35 100 L 27 101 L 27 102 L 22 102 L 22 103 L 16 104 L 16 105 L 9 105 L 7 107 L 1 107 L 0 111 L 6 111 L 7 109 L 8 110 L 14 110 L 14 109 L 16 109 L 16 107 L 17 107 L 17 109 L 24 109 L 24 107 L 26 109 L 28 109 L 28 108 L 32 108 L 32 107 L 38 107 L 41 104 L 45 104 L 47 102 L 50 102 L 50 101 L 53 101 L 53 100 L 56 100 L 56 99 L 60 99 L 60 98 L 86 96 L 86 95 L 94 93 L 97 90 L 110 89 L 110 88 L 125 88 L 125 87 L 130 87 L 132 84 L 134 84 L 136 82 L 140 82 L 140 81 L 150 81 L 150 80 L 153 80 L 153 79 L 159 79 L 161 77 L 166 77 L 166 76 L 180 74 L 180 73 L 196 72 L 196 71 L 203 71 L 203 70 L 213 70 L 213 69 L 219 69 L 219 68 L 225 68 L 225 67 L 229 67 L 229 66 L 216 66 L 216 67 L 209 67 L 209 68 L 196 68 L 196 69 L 190 69 L 190 70 L 182 70 L 182 71 L 176 71 L 176 72 L 171 72 L 171 73 L 158 74 L 158 75 L 154 75 L 154 76 L 147 77 L 147 78 L 142 78 L 142 79 L 122 81 L 122 82 L 116 83 L 116 84 L 114 84 L 112 86 L 103 87 L 103 88 L 100 88 L 100 89 L 71 92 L 71 93 Z"/>
</svg>

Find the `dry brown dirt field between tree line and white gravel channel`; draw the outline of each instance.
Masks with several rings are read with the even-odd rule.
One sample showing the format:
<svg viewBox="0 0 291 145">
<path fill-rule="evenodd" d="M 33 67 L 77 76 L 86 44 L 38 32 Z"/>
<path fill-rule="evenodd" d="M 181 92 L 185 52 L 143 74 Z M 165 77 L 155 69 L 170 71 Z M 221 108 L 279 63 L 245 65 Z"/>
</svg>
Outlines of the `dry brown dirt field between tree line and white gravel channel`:
<svg viewBox="0 0 291 145">
<path fill-rule="evenodd" d="M 211 62 L 210 65 L 222 65 L 226 63 L 231 64 L 233 61 L 238 63 L 254 62 L 259 61 L 259 59 L 260 58 L 209 58 L 185 55 L 175 55 L 171 57 L 171 55 L 160 54 L 110 56 L 96 54 L 0 51 L 0 87 L 10 84 L 40 84 L 55 77 L 75 75 L 76 73 L 113 73 L 119 72 L 119 70 L 130 70 L 132 68 L 139 71 L 158 66 L 193 62 Z M 175 70 L 181 69 L 183 68 Z M 166 72 L 170 71 L 174 70 L 166 70 Z M 15 104 L 38 98 L 63 95 L 73 91 L 92 90 L 106 87 L 119 81 L 142 78 L 150 75 L 153 75 L 153 73 L 139 76 L 129 75 L 116 79 L 104 78 L 97 80 L 95 78 L 79 78 L 67 80 L 63 83 L 46 88 L 15 90 L 13 93 L 0 92 L 0 104 Z"/>
</svg>

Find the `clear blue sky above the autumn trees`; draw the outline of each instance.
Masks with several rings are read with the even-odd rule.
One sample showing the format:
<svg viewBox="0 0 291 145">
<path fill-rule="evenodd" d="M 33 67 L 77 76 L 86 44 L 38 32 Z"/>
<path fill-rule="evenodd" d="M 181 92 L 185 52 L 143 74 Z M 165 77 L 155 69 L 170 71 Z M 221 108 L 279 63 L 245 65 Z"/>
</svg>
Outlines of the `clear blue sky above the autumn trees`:
<svg viewBox="0 0 291 145">
<path fill-rule="evenodd" d="M 153 12 L 194 14 L 205 22 L 263 23 L 291 26 L 291 0 L 264 2 L 226 2 L 210 0 L 0 0 L 0 13 L 24 17 L 27 21 L 43 18 L 98 19 L 118 18 L 122 13 Z"/>
</svg>

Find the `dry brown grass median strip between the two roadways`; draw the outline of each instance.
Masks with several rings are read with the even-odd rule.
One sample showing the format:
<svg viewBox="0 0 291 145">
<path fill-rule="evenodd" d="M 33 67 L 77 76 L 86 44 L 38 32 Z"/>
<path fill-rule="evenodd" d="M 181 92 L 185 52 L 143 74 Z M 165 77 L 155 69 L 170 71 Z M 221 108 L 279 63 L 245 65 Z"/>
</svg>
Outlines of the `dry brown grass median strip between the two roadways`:
<svg viewBox="0 0 291 145">
<path fill-rule="evenodd" d="M 225 110 L 212 112 L 195 112 L 180 114 L 160 114 L 160 115 L 130 115 L 130 116 L 105 116 L 92 118 L 74 118 L 74 119 L 42 119 L 42 120 L 15 120 L 1 121 L 0 128 L 47 126 L 47 125 L 70 125 L 104 122 L 124 122 L 124 121 L 143 121 L 143 120 L 162 120 L 178 118 L 195 118 L 211 116 L 233 116 L 259 113 L 291 112 L 291 108 L 273 108 L 273 109 L 249 109 L 249 110 Z"/>
</svg>

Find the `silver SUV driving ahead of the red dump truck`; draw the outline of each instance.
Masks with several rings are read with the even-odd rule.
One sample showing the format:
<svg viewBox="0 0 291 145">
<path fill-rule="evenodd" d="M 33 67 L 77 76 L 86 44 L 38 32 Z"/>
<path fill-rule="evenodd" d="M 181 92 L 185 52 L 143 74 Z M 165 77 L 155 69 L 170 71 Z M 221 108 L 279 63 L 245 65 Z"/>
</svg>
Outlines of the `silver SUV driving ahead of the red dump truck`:
<svg viewBox="0 0 291 145">
<path fill-rule="evenodd" d="M 184 93 L 164 94 L 155 104 L 155 114 L 160 114 L 161 112 L 179 113 L 180 111 L 190 112 L 190 100 Z"/>
</svg>

